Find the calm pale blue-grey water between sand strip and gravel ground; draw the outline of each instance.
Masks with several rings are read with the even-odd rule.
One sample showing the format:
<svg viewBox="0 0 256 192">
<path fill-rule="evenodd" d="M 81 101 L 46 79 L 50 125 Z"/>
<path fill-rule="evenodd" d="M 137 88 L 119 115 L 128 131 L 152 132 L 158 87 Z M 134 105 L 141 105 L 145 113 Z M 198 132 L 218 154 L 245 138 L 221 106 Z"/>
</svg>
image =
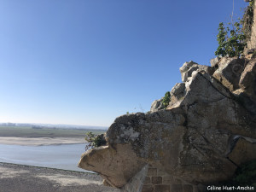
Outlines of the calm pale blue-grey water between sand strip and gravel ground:
<svg viewBox="0 0 256 192">
<path fill-rule="evenodd" d="M 84 153 L 84 147 L 85 144 L 48 146 L 0 144 L 0 162 L 86 172 L 78 167 L 80 156 Z"/>
</svg>

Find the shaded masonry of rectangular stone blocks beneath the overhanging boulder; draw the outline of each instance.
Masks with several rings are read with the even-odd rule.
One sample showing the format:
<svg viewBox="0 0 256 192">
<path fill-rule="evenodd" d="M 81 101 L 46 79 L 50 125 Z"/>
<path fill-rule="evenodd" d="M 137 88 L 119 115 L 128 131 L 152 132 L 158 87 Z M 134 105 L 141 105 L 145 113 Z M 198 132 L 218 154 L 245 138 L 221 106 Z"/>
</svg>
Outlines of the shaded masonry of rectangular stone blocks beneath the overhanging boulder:
<svg viewBox="0 0 256 192">
<path fill-rule="evenodd" d="M 191 183 L 149 166 L 142 192 L 198 192 L 198 189 Z"/>
</svg>

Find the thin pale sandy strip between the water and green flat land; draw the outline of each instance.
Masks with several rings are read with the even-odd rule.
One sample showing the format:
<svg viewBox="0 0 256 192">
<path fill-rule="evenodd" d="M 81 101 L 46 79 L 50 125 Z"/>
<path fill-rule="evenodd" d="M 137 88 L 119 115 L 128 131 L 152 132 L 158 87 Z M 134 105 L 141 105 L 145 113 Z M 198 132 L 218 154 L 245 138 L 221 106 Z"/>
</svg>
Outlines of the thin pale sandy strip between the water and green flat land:
<svg viewBox="0 0 256 192">
<path fill-rule="evenodd" d="M 9 145 L 58 145 L 86 143 L 83 137 L 0 137 L 0 144 Z"/>
</svg>

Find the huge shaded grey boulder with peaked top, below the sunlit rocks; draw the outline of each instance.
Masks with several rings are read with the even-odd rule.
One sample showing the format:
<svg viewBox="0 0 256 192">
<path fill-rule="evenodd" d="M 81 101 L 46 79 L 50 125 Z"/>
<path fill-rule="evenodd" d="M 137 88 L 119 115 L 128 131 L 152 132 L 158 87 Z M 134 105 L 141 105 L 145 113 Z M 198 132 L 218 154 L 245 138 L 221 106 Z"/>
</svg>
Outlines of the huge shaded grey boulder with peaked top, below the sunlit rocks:
<svg viewBox="0 0 256 192">
<path fill-rule="evenodd" d="M 115 119 L 107 131 L 108 152 L 87 152 L 79 166 L 99 172 L 116 187 L 146 163 L 191 183 L 232 177 L 237 167 L 228 158 L 233 138 L 255 139 L 255 124 L 230 90 L 209 74 L 195 71 L 185 87 L 176 108 Z"/>
</svg>

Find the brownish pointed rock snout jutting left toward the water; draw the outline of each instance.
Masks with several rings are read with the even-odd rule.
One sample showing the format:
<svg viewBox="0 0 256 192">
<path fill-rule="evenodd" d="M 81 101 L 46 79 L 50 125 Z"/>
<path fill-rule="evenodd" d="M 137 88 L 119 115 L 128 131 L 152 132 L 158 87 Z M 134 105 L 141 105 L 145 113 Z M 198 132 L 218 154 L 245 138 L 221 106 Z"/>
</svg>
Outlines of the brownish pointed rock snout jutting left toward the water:
<svg viewBox="0 0 256 192">
<path fill-rule="evenodd" d="M 127 183 L 143 166 L 145 163 L 138 160 L 129 145 L 92 148 L 85 152 L 79 161 L 79 167 L 100 173 L 105 179 L 105 184 L 116 188 Z"/>
</svg>

